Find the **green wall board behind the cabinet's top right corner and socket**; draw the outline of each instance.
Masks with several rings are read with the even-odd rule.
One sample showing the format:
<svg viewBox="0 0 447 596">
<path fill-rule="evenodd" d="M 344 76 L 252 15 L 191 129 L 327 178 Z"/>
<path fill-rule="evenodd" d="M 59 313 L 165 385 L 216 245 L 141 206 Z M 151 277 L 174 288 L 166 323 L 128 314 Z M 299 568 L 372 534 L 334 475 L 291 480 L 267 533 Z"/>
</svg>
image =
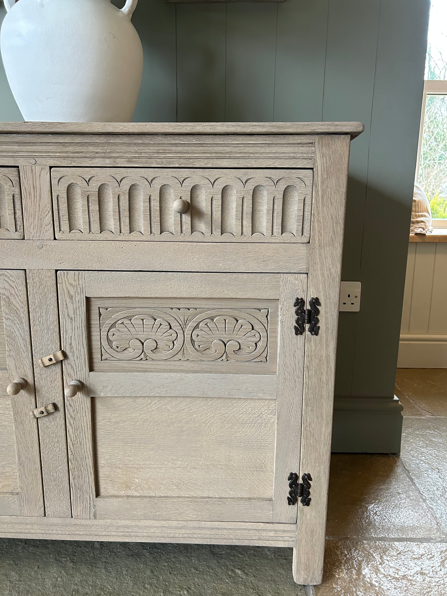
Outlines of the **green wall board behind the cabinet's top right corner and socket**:
<svg viewBox="0 0 447 596">
<path fill-rule="evenodd" d="M 365 132 L 352 143 L 349 160 L 344 280 L 360 280 L 368 153 L 380 0 L 330 0 L 323 120 L 359 120 Z M 355 51 L 353 51 L 355 48 Z M 352 76 L 355 73 L 355 76 Z M 352 393 L 357 313 L 340 313 L 336 395 Z"/>
</svg>

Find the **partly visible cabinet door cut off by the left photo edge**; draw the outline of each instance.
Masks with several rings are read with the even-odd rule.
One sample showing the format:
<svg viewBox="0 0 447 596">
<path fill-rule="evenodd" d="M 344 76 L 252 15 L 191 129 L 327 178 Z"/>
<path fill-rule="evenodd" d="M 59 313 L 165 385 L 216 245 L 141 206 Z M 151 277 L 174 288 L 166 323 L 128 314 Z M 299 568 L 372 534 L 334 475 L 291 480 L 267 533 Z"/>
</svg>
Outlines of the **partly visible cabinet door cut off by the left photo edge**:
<svg viewBox="0 0 447 596">
<path fill-rule="evenodd" d="M 43 516 L 24 271 L 0 271 L 0 516 Z M 26 385 L 14 385 L 23 378 Z M 15 395 L 8 395 L 7 387 Z"/>
</svg>

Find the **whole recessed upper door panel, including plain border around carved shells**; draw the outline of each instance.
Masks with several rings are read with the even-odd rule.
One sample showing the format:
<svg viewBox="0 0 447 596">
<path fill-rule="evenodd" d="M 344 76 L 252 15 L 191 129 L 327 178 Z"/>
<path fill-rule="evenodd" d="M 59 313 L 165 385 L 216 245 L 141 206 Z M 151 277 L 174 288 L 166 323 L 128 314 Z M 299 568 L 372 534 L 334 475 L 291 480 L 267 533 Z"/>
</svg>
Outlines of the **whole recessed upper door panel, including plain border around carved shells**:
<svg viewBox="0 0 447 596">
<path fill-rule="evenodd" d="M 145 275 L 149 281 L 150 274 Z M 178 297 L 110 297 L 88 300 L 91 370 L 109 373 L 124 371 L 140 373 L 184 371 L 184 373 L 247 375 L 275 373 L 277 371 L 278 300 L 226 298 L 227 293 L 236 294 L 238 289 L 239 296 L 256 294 L 256 290 L 252 287 L 251 274 L 244 276 L 244 283 L 239 288 L 235 284 L 237 280 L 231 280 L 231 275 L 225 276 L 227 287 L 222 290 L 221 299 L 187 298 L 185 296 L 188 294 L 197 293 L 194 289 L 194 278 L 200 278 L 201 275 L 190 276 L 192 282 L 190 291 L 184 291 L 188 284 L 185 280 L 181 282 L 183 275 L 177 274 Z M 154 285 L 153 294 L 155 296 L 158 294 L 156 285 Z M 167 336 L 160 337 L 162 334 L 160 325 L 171 337 L 172 345 L 163 342 L 163 337 L 166 339 Z M 147 328 L 144 331 L 145 326 Z M 196 333 L 199 332 L 201 340 L 205 340 L 202 346 L 199 345 L 201 340 L 197 344 L 194 339 L 194 337 L 198 339 Z M 153 340 L 157 340 L 158 337 L 162 340 L 162 347 L 156 347 L 154 352 L 151 346 L 155 347 L 155 344 L 145 344 L 141 333 L 145 339 L 150 339 L 152 336 Z M 249 341 L 249 337 L 244 340 L 246 333 L 252 334 L 253 339 L 256 339 L 254 344 Z M 132 342 L 133 347 L 129 343 L 132 336 L 136 342 Z M 218 346 L 217 349 L 209 344 L 210 339 L 218 342 L 215 344 L 215 347 Z M 236 347 L 236 344 L 228 344 L 229 340 L 241 342 L 235 353 L 232 352 L 232 346 Z M 122 342 L 125 342 L 127 347 Z M 147 351 L 145 346 L 148 348 Z M 159 378 L 162 387 L 163 377 Z M 187 377 L 185 381 L 188 384 Z M 253 383 L 256 384 L 257 381 L 253 380 Z M 230 386 L 231 384 L 230 381 Z M 249 386 L 250 382 L 244 383 L 246 389 Z M 272 385 L 269 384 L 269 389 L 271 387 Z"/>
</svg>

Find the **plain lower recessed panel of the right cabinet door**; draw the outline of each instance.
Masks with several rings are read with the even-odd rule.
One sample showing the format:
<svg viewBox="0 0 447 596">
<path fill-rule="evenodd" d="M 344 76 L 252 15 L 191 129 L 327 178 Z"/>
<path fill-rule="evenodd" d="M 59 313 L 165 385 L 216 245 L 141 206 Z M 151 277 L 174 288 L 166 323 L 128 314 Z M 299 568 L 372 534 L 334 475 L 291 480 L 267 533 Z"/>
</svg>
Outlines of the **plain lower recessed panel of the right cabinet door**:
<svg viewBox="0 0 447 596">
<path fill-rule="evenodd" d="M 164 496 L 167 506 L 173 496 L 272 498 L 274 401 L 133 396 L 92 405 L 98 496 Z"/>
</svg>

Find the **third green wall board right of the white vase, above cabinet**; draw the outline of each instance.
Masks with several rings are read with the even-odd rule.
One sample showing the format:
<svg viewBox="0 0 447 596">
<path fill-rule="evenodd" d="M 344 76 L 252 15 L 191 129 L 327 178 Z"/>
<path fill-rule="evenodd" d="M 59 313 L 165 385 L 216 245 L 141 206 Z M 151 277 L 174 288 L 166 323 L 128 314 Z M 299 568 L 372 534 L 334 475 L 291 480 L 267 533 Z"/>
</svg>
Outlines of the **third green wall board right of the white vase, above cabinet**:
<svg viewBox="0 0 447 596">
<path fill-rule="evenodd" d="M 273 120 L 277 14 L 273 3 L 227 5 L 227 122 Z"/>
</svg>

